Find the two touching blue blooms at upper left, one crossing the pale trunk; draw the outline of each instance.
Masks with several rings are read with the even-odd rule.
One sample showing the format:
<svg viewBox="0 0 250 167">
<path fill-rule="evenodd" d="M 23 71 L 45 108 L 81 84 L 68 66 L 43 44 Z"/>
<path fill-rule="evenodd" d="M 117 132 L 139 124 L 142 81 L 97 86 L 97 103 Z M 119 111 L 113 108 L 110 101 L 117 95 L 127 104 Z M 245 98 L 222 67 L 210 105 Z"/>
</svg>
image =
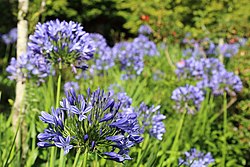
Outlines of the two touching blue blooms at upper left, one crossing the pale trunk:
<svg viewBox="0 0 250 167">
<path fill-rule="evenodd" d="M 84 70 L 88 67 L 85 61 L 93 57 L 94 51 L 89 34 L 80 24 L 59 20 L 38 23 L 34 34 L 29 37 L 27 53 L 17 60 L 12 58 L 7 72 L 10 79 L 25 80 L 32 75 L 44 79 L 61 63 L 69 65 L 76 73 L 76 68 Z"/>
</svg>

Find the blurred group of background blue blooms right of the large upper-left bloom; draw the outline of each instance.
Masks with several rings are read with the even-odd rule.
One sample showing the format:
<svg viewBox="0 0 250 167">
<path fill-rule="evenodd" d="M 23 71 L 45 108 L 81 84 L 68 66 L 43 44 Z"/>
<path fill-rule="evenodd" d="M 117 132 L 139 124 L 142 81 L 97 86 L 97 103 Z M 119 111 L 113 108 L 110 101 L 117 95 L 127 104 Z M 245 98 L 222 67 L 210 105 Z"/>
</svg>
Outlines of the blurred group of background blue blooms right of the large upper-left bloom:
<svg viewBox="0 0 250 167">
<path fill-rule="evenodd" d="M 94 64 L 89 70 L 90 74 L 99 74 L 118 65 L 124 72 L 121 77 L 124 80 L 140 75 L 144 68 L 144 56 L 159 55 L 156 44 L 146 36 L 151 33 L 149 30 L 150 27 L 143 25 L 139 36 L 133 41 L 119 42 L 112 48 L 107 45 L 101 34 L 90 34 L 96 47 Z"/>
</svg>

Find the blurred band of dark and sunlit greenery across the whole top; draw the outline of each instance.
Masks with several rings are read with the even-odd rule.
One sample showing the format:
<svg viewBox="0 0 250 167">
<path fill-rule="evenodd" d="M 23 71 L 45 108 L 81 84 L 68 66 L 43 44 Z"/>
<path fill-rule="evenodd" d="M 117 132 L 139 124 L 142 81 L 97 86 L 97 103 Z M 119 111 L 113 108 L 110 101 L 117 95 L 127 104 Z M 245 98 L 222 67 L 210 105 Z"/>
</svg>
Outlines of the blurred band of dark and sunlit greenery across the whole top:
<svg viewBox="0 0 250 167">
<path fill-rule="evenodd" d="M 249 0 L 30 0 L 30 29 L 37 21 L 59 18 L 83 24 L 103 34 L 112 45 L 136 35 L 147 23 L 156 40 L 172 40 L 191 33 L 195 38 L 249 37 Z M 46 5 L 42 7 L 42 4 Z M 1 0 L 0 33 L 16 26 L 17 1 Z"/>
</svg>

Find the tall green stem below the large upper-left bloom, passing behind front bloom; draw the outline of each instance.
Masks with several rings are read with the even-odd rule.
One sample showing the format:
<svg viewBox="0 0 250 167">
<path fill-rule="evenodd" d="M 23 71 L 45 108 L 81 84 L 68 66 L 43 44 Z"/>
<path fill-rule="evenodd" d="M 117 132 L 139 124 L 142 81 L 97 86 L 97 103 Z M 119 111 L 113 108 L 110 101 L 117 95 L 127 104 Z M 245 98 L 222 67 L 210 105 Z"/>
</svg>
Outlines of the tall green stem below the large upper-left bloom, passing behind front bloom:
<svg viewBox="0 0 250 167">
<path fill-rule="evenodd" d="M 59 62 L 59 75 L 58 75 L 58 80 L 57 80 L 57 91 L 56 91 L 56 108 L 59 107 L 59 102 L 60 102 L 61 80 L 62 80 L 62 62 Z M 51 155 L 50 155 L 50 167 L 55 166 L 54 162 L 56 158 L 56 152 L 57 152 L 57 148 L 52 147 Z M 64 158 L 64 156 L 62 156 L 62 158 Z M 61 160 L 62 159 L 60 156 L 60 162 Z"/>
</svg>

